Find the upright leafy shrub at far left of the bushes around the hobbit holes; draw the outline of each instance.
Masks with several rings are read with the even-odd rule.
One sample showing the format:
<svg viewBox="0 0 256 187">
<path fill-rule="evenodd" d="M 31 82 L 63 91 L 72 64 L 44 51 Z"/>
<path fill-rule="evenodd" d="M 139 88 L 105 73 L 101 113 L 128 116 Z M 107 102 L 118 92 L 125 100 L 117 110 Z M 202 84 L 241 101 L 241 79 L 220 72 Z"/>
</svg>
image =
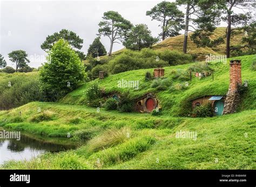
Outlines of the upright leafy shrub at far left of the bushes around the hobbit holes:
<svg viewBox="0 0 256 187">
<path fill-rule="evenodd" d="M 99 83 L 92 82 L 90 87 L 86 90 L 85 95 L 89 102 L 102 98 L 102 89 L 99 87 Z"/>
</svg>

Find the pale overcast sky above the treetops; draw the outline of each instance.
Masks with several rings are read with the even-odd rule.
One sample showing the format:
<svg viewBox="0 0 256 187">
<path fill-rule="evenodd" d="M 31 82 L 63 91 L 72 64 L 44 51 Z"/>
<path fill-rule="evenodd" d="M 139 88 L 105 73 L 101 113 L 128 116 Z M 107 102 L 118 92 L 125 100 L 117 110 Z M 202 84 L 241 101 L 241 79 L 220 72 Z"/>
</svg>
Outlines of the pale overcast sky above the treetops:
<svg viewBox="0 0 256 187">
<path fill-rule="evenodd" d="M 0 0 L 0 53 L 8 62 L 8 53 L 22 49 L 29 55 L 31 67 L 41 66 L 46 53 L 41 44 L 48 35 L 59 32 L 62 28 L 71 30 L 84 40 L 83 51 L 96 38 L 98 23 L 103 13 L 118 11 L 132 24 L 146 24 L 154 37 L 161 32 L 158 21 L 146 16 L 146 11 L 163 0 L 154 1 L 6 1 Z M 174 0 L 173 0 L 174 1 Z M 170 2 L 173 2 L 170 1 Z M 185 12 L 185 8 L 181 8 Z M 183 32 L 182 32 L 183 33 Z M 110 40 L 102 37 L 101 41 L 107 52 Z M 123 48 L 114 44 L 113 52 Z"/>
</svg>

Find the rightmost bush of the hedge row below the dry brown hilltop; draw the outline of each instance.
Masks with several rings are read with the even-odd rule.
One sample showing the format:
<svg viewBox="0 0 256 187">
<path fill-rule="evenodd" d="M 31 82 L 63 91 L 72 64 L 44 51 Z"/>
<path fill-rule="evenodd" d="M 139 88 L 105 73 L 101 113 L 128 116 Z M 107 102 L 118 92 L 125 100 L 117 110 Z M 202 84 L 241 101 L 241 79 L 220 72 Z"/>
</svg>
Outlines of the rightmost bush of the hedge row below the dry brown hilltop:
<svg viewBox="0 0 256 187">
<path fill-rule="evenodd" d="M 189 54 L 184 54 L 178 51 L 171 51 L 166 49 L 163 52 L 159 52 L 159 57 L 170 64 L 170 66 L 176 66 L 178 64 L 191 63 L 193 57 Z"/>
</svg>

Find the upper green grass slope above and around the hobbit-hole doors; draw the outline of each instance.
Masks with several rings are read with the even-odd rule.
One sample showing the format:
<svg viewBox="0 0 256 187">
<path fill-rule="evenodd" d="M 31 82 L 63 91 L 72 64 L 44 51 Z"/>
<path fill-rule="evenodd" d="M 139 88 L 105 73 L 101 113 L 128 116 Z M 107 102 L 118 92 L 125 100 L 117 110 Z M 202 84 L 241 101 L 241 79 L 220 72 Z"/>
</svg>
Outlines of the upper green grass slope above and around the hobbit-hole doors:
<svg viewBox="0 0 256 187">
<path fill-rule="evenodd" d="M 251 64 L 254 59 L 254 55 L 240 56 L 233 59 L 241 59 L 242 64 L 242 81 L 248 81 L 248 91 L 242 99 L 240 110 L 255 110 L 256 109 L 256 72 L 251 69 Z M 153 93 L 160 100 L 160 105 L 163 106 L 163 112 L 168 116 L 186 116 L 186 113 L 191 110 L 190 100 L 203 97 L 207 95 L 226 95 L 229 86 L 229 60 L 227 63 L 211 62 L 210 67 L 214 69 L 214 80 L 212 76 L 208 76 L 199 80 L 193 75 L 192 82 L 188 82 L 188 87 L 185 90 L 158 90 L 151 88 L 152 81 L 145 81 L 145 73 L 150 71 L 153 73 L 153 69 L 140 69 L 133 71 L 126 71 L 116 75 L 111 75 L 99 81 L 101 87 L 104 88 L 106 93 L 111 92 L 125 92 L 130 90 L 131 97 L 138 99 L 145 95 L 145 93 Z M 179 71 L 184 71 L 188 74 L 187 68 L 193 66 L 193 64 L 184 64 L 180 66 L 165 67 L 165 77 L 172 77 Z M 174 75 L 173 75 L 174 74 Z M 139 81 L 139 89 L 118 88 L 118 81 Z M 168 86 L 177 87 L 179 84 L 185 84 L 186 81 L 173 80 Z M 69 93 L 60 103 L 63 104 L 76 104 L 86 105 L 87 99 L 85 97 L 85 90 L 89 87 L 89 84 L 85 84 L 79 89 Z"/>
</svg>

